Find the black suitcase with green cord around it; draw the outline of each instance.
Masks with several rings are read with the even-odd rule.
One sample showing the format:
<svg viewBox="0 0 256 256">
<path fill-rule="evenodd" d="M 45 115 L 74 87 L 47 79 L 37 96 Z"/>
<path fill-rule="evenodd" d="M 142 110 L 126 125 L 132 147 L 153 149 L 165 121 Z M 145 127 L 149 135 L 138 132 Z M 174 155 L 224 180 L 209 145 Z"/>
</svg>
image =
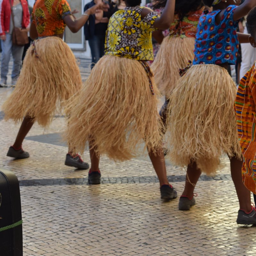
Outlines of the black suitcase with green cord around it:
<svg viewBox="0 0 256 256">
<path fill-rule="evenodd" d="M 22 256 L 20 186 L 13 172 L 0 168 L 0 256 Z"/>
</svg>

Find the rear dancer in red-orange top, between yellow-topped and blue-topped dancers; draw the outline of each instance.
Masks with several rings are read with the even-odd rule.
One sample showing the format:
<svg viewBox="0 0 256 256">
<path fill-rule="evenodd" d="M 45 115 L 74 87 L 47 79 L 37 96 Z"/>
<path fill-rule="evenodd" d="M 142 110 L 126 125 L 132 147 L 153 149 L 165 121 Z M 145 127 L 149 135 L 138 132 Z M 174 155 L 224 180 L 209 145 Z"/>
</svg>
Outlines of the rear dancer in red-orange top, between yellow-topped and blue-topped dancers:
<svg viewBox="0 0 256 256">
<path fill-rule="evenodd" d="M 166 0 L 156 4 L 160 8 Z M 151 65 L 155 76 L 156 86 L 165 102 L 160 110 L 160 116 L 166 123 L 166 109 L 169 103 L 168 98 L 177 84 L 180 77 L 179 69 L 187 65 L 188 60 L 194 59 L 194 47 L 196 37 L 196 27 L 204 6 L 202 0 L 180 0 L 175 3 L 175 14 L 169 28 L 169 36 L 160 39 L 160 49 L 156 55 L 156 60 Z M 159 34 L 159 33 L 158 33 Z"/>
</svg>

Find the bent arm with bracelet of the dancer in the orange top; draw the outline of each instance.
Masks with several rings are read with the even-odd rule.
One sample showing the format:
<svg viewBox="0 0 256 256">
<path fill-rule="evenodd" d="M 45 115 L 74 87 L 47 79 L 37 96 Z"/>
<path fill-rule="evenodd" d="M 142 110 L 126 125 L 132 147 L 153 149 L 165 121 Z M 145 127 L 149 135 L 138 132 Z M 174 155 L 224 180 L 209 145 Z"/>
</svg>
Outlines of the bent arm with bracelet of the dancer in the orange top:
<svg viewBox="0 0 256 256">
<path fill-rule="evenodd" d="M 64 17 L 63 20 L 67 24 L 71 32 L 76 33 L 80 30 L 80 28 L 84 26 L 85 22 L 89 19 L 89 16 L 91 14 L 94 14 L 97 9 L 106 10 L 108 8 L 108 4 L 100 2 L 87 9 L 84 14 L 82 14 L 82 16 L 78 19 L 75 19 L 72 15 L 67 15 L 66 17 Z"/>
</svg>

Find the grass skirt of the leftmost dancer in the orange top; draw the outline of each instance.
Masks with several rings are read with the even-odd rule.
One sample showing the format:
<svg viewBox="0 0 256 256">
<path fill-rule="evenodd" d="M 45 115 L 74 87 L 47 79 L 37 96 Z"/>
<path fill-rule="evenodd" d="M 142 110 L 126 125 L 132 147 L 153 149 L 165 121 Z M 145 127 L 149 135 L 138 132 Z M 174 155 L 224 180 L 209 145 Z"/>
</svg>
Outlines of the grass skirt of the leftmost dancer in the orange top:
<svg viewBox="0 0 256 256">
<path fill-rule="evenodd" d="M 30 116 L 47 126 L 62 103 L 82 86 L 75 56 L 56 36 L 35 41 L 28 48 L 16 87 L 3 105 L 5 119 Z"/>
</svg>

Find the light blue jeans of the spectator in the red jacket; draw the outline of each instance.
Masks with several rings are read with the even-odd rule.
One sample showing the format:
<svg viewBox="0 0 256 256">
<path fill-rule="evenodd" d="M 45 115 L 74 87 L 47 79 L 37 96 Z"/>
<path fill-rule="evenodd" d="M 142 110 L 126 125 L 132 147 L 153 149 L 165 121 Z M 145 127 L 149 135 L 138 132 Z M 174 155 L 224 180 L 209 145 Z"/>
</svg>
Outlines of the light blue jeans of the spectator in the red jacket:
<svg viewBox="0 0 256 256">
<path fill-rule="evenodd" d="M 24 46 L 12 45 L 12 35 L 6 34 L 6 40 L 1 40 L 1 47 L 1 79 L 7 80 L 11 54 L 13 58 L 12 79 L 16 79 L 20 74 Z"/>
</svg>

